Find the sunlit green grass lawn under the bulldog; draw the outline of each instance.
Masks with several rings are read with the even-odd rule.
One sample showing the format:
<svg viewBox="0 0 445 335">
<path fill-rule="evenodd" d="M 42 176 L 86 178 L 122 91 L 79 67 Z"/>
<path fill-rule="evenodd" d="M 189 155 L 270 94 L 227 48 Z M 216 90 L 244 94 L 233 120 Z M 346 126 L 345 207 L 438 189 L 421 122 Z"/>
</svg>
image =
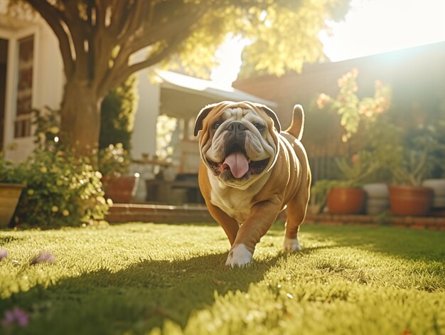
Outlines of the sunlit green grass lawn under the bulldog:
<svg viewBox="0 0 445 335">
<path fill-rule="evenodd" d="M 285 253 L 283 230 L 234 270 L 217 225 L 0 231 L 0 319 L 30 317 L 0 333 L 445 334 L 444 233 L 303 225 Z"/>
</svg>

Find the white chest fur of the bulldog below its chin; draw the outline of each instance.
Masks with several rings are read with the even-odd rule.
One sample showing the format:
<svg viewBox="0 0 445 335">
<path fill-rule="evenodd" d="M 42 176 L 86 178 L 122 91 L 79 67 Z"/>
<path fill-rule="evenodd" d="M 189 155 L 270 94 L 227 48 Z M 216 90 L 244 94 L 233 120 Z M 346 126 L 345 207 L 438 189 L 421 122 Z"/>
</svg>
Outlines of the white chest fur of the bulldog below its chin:
<svg viewBox="0 0 445 335">
<path fill-rule="evenodd" d="M 209 179 L 212 186 L 210 202 L 221 208 L 228 216 L 235 218 L 235 220 L 241 224 L 250 214 L 252 198 L 257 194 L 259 189 L 264 186 L 268 178 L 260 179 L 246 190 L 223 186 L 218 181 L 218 177 L 210 173 Z"/>
</svg>

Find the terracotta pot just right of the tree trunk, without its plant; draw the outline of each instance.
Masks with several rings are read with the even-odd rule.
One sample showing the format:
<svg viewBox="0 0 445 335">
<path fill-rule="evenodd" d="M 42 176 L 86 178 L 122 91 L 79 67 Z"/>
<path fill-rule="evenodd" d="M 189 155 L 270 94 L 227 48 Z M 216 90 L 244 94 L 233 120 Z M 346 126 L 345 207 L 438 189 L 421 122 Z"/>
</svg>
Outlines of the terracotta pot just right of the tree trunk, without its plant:
<svg viewBox="0 0 445 335">
<path fill-rule="evenodd" d="M 103 176 L 105 197 L 114 203 L 129 203 L 136 193 L 139 176 Z"/>
</svg>

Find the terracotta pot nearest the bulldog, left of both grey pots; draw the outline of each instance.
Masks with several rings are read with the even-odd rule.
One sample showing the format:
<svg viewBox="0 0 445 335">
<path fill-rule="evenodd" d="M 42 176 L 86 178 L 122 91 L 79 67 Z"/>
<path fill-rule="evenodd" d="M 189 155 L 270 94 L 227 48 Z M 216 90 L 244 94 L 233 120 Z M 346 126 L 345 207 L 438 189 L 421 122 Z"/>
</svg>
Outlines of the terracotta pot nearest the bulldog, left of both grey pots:
<svg viewBox="0 0 445 335">
<path fill-rule="evenodd" d="M 334 187 L 328 194 L 328 209 L 331 214 L 358 214 L 365 206 L 365 191 L 357 187 Z"/>
</svg>

